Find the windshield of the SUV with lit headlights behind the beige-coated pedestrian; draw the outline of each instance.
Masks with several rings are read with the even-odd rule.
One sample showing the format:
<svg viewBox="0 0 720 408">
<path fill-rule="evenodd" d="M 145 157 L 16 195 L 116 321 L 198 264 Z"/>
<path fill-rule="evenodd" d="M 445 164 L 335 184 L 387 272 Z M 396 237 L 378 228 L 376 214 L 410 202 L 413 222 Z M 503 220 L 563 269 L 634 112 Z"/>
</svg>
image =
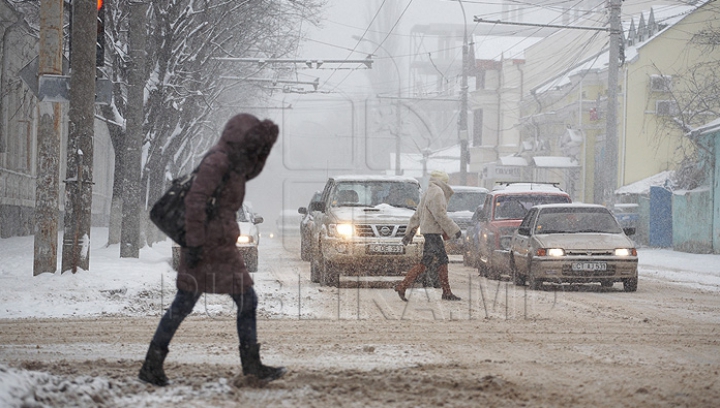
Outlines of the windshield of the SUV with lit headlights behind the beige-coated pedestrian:
<svg viewBox="0 0 720 408">
<path fill-rule="evenodd" d="M 342 182 L 332 192 L 333 207 L 375 207 L 384 203 L 414 210 L 419 201 L 418 184 L 398 181 Z"/>
</svg>

